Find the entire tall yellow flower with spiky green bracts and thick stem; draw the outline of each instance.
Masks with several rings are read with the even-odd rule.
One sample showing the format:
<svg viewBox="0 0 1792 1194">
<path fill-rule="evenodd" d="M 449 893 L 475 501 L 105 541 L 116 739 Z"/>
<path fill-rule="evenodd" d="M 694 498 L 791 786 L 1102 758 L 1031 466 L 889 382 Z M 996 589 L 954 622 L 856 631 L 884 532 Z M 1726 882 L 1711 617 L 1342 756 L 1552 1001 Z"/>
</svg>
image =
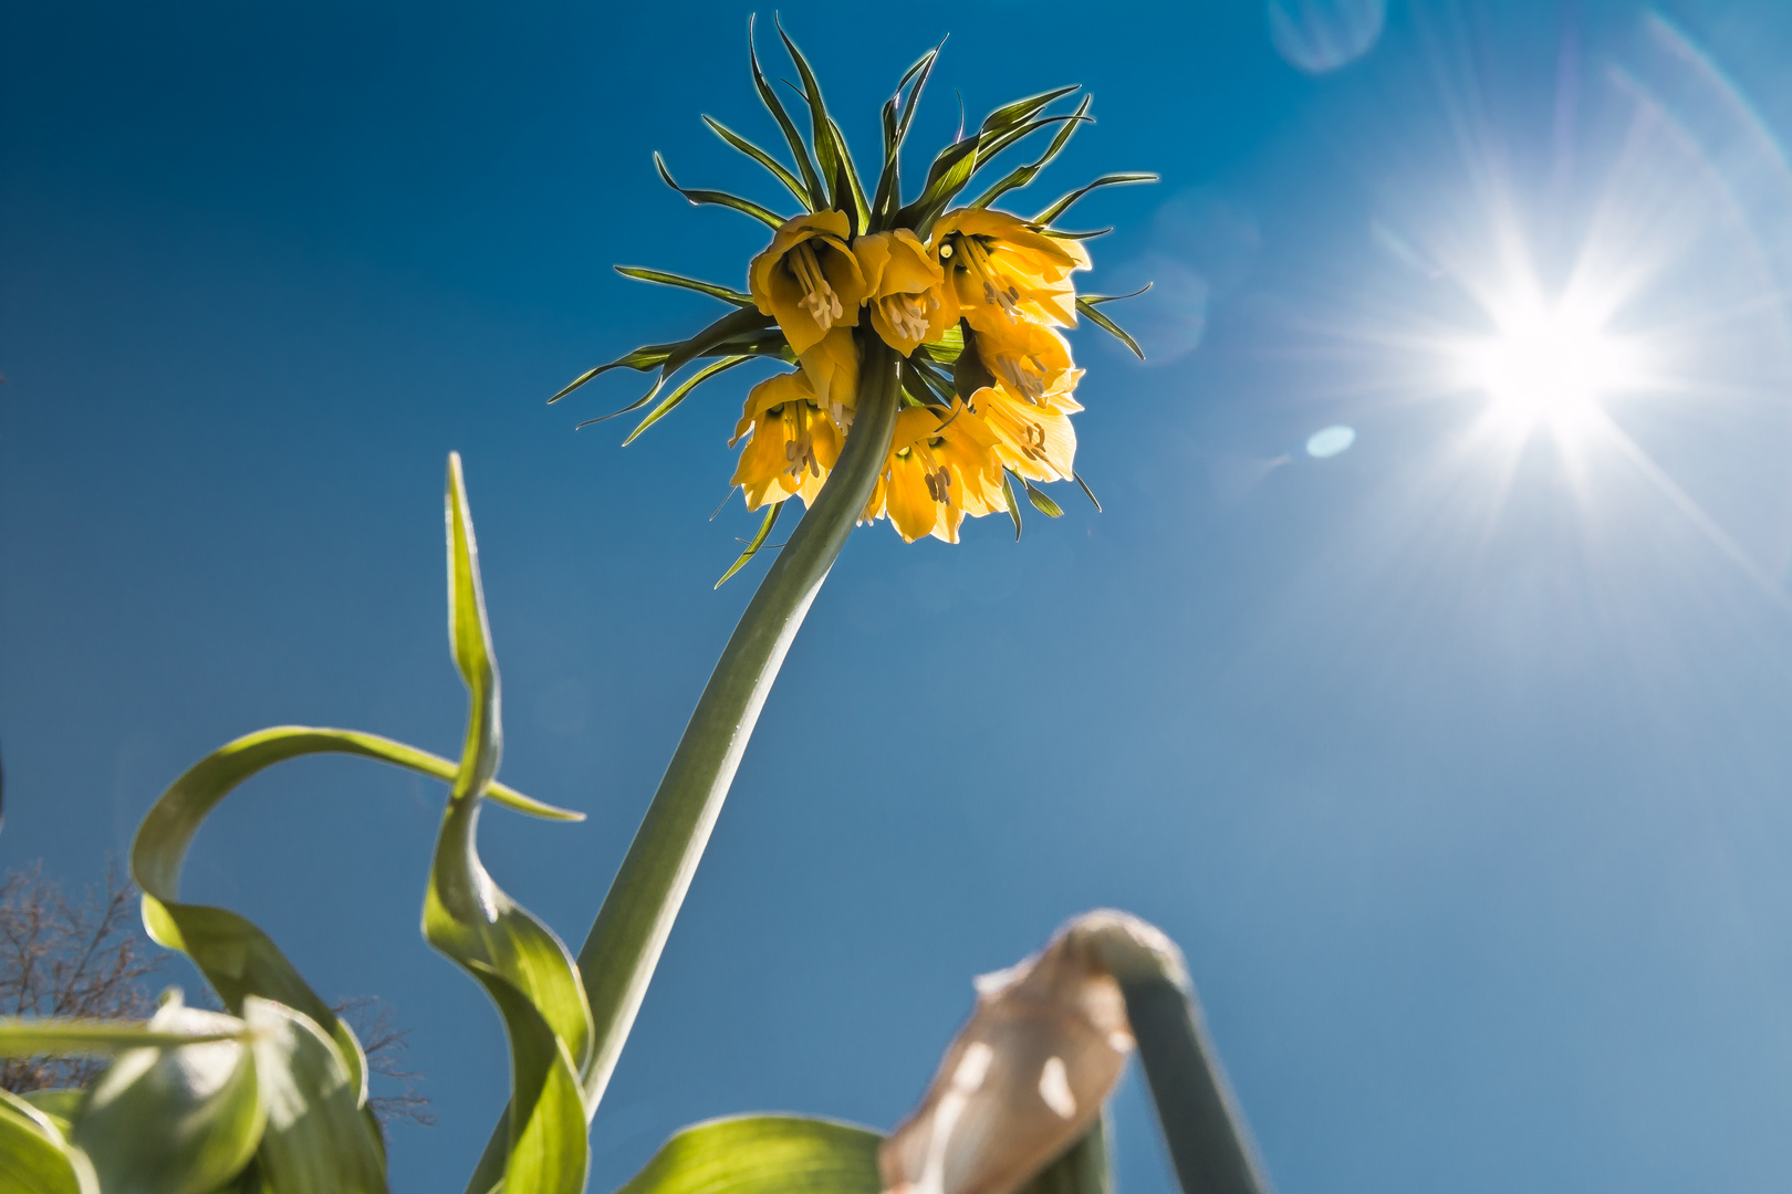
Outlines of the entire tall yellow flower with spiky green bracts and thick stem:
<svg viewBox="0 0 1792 1194">
<path fill-rule="evenodd" d="M 753 387 L 735 430 L 735 442 L 747 440 L 735 485 L 745 492 L 749 510 L 765 514 L 722 580 L 763 550 L 787 499 L 801 498 L 806 507 L 710 675 L 579 951 L 595 1029 L 582 1070 L 593 1110 L 778 668 L 851 528 L 889 517 L 905 541 L 934 535 L 957 542 L 964 517 L 1007 512 L 1018 535 L 1021 516 L 1012 482 L 1054 517 L 1061 514 L 1057 503 L 1034 482 L 1081 483 L 1072 467 L 1070 414 L 1081 410 L 1072 394 L 1082 371 L 1073 367 L 1057 328 L 1075 324 L 1081 311 L 1125 335 L 1095 310 L 1102 297 L 1079 297 L 1072 285 L 1072 272 L 1090 267 L 1082 247 L 1088 235 L 1052 224 L 1098 186 L 1154 179 L 1106 175 L 1032 220 L 991 209 L 991 202 L 1030 183 L 1090 120 L 1088 97 L 1072 113 L 1047 113 L 1052 102 L 1077 90 L 1059 88 L 991 113 L 977 132 L 934 159 L 921 192 L 903 202 L 901 147 L 939 54 L 932 50 L 909 68 L 883 106 L 882 172 L 867 190 L 814 70 L 783 30 L 780 36 L 803 81 L 810 113 L 806 143 L 765 82 L 751 30 L 749 63 L 796 168 L 715 120 L 704 122 L 765 166 L 803 211 L 787 218 L 749 199 L 681 188 L 656 156 L 659 175 L 690 202 L 720 204 L 762 220 L 772 229 L 772 242 L 751 261 L 745 292 L 618 267 L 629 277 L 699 290 L 737 310 L 685 340 L 642 345 L 591 369 L 550 399 L 559 401 L 611 369 L 658 371 L 640 401 L 615 412 L 624 414 L 659 399 L 686 365 L 717 358 L 674 385 L 629 435 L 633 442 L 695 387 L 738 363 L 765 358 L 794 365 Z M 1047 131 L 1052 136 L 1039 159 L 1011 170 L 969 206 L 950 209 L 1002 150 Z M 484 1194 L 496 1178 L 502 1139 L 504 1131 L 493 1135 L 470 1192 Z"/>
</svg>

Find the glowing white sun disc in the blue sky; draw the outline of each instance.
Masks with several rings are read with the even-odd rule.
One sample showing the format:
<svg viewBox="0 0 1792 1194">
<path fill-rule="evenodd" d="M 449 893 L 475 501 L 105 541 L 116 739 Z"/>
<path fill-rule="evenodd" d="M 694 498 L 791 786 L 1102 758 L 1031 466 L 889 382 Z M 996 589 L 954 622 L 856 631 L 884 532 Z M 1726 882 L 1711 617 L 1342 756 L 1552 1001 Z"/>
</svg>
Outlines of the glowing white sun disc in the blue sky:
<svg viewBox="0 0 1792 1194">
<path fill-rule="evenodd" d="M 1590 303 L 1518 297 L 1495 311 L 1496 333 L 1460 347 L 1462 381 L 1502 414 L 1536 419 L 1572 415 L 1633 385 L 1634 345 L 1604 328 Z"/>
</svg>

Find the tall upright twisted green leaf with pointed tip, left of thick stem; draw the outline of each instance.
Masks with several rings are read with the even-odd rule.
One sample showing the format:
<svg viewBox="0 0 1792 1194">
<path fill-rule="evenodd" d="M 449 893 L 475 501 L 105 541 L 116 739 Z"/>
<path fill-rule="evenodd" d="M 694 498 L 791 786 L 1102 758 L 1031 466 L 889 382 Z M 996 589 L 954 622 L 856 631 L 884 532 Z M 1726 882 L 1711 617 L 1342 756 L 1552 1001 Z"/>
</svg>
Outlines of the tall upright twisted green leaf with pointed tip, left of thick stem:
<svg viewBox="0 0 1792 1194">
<path fill-rule="evenodd" d="M 448 641 L 468 687 L 468 732 L 443 814 L 423 934 L 491 995 L 511 1040 L 504 1181 L 529 1194 L 581 1194 L 590 1147 L 579 1069 L 591 1013 L 572 952 L 493 883 L 478 861 L 480 798 L 498 768 L 498 668 L 478 580 L 478 546 L 461 456 L 448 456 Z"/>
</svg>

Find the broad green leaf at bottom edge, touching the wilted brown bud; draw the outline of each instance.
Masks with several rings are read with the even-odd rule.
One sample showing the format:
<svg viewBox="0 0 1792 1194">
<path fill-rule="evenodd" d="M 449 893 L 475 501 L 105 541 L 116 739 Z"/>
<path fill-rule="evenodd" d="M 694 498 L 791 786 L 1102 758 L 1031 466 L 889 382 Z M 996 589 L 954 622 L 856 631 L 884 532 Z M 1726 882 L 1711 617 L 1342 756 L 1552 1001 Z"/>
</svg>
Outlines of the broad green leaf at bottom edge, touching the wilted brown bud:
<svg viewBox="0 0 1792 1194">
<path fill-rule="evenodd" d="M 618 1194 L 878 1194 L 882 1142 L 828 1119 L 711 1119 L 677 1131 Z"/>
</svg>

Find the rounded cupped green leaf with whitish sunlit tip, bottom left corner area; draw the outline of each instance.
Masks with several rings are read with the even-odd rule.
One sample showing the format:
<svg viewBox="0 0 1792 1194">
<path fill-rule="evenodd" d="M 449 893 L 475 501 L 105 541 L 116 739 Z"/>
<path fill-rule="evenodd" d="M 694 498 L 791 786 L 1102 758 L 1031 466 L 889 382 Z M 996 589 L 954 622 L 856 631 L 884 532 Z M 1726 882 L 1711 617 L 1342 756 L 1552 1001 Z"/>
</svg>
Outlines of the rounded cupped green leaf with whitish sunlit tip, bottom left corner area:
<svg viewBox="0 0 1792 1194">
<path fill-rule="evenodd" d="M 231 1033 L 244 1022 L 172 999 L 151 1028 Z M 129 1049 L 95 1079 L 70 1144 L 93 1162 L 102 1190 L 211 1194 L 249 1164 L 267 1106 L 254 1054 L 237 1040 Z"/>
</svg>

